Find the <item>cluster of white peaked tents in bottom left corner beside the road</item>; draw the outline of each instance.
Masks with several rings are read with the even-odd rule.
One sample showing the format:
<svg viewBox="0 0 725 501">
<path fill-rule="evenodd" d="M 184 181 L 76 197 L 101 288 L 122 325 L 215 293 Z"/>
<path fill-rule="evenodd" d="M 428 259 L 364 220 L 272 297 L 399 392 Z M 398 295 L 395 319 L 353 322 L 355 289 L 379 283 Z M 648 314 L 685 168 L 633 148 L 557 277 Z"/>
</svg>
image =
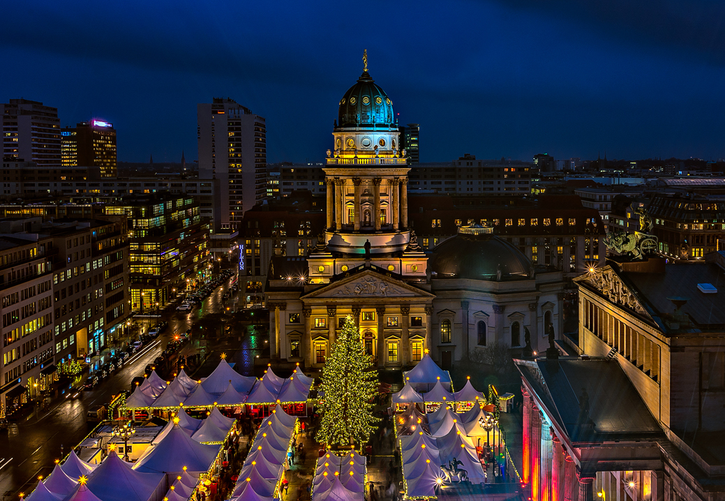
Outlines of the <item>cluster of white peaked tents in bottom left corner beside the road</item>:
<svg viewBox="0 0 725 501">
<path fill-rule="evenodd" d="M 26 501 L 188 500 L 199 476 L 212 470 L 219 459 L 234 421 L 217 408 L 203 420 L 180 410 L 136 463 L 121 459 L 113 447 L 99 465 L 71 452 L 38 482 Z"/>
</svg>

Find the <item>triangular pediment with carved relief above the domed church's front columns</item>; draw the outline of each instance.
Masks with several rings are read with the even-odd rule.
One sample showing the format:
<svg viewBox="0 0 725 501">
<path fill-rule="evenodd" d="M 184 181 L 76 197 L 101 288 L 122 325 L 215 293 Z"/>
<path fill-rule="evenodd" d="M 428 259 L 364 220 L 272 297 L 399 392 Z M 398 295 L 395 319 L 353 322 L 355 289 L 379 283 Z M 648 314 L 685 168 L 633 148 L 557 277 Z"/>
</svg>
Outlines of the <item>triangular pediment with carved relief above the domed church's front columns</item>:
<svg viewBox="0 0 725 501">
<path fill-rule="evenodd" d="M 302 301 L 310 299 L 386 299 L 386 298 L 433 298 L 434 294 L 410 286 L 396 278 L 384 276 L 373 270 L 363 270 L 352 276 L 315 289 L 302 296 Z"/>
</svg>

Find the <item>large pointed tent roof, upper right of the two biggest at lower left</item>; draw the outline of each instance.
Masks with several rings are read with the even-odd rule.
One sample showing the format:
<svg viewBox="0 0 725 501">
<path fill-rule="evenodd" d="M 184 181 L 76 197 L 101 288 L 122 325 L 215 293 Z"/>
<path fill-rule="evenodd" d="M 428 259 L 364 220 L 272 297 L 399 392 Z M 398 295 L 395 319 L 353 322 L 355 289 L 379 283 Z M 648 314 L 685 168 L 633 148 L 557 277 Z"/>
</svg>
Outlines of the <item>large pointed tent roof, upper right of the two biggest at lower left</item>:
<svg viewBox="0 0 725 501">
<path fill-rule="evenodd" d="M 183 471 L 186 466 L 191 471 L 206 472 L 219 449 L 218 445 L 199 444 L 177 425 L 161 442 L 147 449 L 133 468 L 143 472 L 173 473 Z"/>
</svg>

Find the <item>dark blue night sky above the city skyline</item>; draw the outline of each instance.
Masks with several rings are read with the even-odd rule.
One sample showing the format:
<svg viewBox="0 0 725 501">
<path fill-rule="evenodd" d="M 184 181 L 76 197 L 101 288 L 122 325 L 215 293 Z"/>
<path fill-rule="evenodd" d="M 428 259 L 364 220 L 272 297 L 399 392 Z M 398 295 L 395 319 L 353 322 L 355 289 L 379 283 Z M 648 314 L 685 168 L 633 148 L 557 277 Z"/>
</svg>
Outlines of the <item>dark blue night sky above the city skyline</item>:
<svg viewBox="0 0 725 501">
<path fill-rule="evenodd" d="M 657 6 L 655 7 L 655 4 Z M 725 157 L 721 0 L 5 2 L 0 99 L 114 123 L 118 158 L 196 158 L 196 103 L 266 117 L 268 161 L 320 161 L 362 70 L 421 160 Z"/>
</svg>

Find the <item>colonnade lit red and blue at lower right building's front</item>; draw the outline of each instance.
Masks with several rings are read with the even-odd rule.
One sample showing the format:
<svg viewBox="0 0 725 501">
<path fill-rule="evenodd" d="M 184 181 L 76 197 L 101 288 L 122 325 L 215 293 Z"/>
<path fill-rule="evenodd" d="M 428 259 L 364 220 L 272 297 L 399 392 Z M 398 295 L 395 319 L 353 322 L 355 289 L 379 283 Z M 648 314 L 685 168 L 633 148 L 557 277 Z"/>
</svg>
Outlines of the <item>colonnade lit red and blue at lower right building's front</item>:
<svg viewBox="0 0 725 501">
<path fill-rule="evenodd" d="M 571 455 L 529 392 L 523 391 L 523 482 L 531 501 L 593 501 L 594 473 L 576 468 Z"/>
</svg>

